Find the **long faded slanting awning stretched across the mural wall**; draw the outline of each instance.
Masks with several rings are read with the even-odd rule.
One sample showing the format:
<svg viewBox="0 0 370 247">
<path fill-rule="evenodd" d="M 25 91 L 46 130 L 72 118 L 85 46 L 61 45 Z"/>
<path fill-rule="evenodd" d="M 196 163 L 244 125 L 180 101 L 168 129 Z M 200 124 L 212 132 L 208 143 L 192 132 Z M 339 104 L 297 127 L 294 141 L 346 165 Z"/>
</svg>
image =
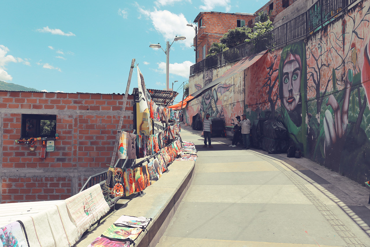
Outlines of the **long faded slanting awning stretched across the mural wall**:
<svg viewBox="0 0 370 247">
<path fill-rule="evenodd" d="M 253 63 L 257 62 L 268 50 L 264 50 L 263 52 L 253 54 L 248 57 L 244 57 L 242 60 L 237 62 L 234 66 L 228 69 L 225 73 L 222 74 L 219 78 L 213 80 L 208 85 L 204 86 L 203 88 L 199 89 L 195 93 L 192 93 L 191 96 L 194 97 L 193 99 L 198 98 L 203 93 L 211 89 L 213 86 L 216 86 L 218 83 L 222 82 L 223 80 L 229 79 L 232 76 L 238 75 L 240 72 L 248 68 L 249 66 L 253 65 Z"/>
</svg>

